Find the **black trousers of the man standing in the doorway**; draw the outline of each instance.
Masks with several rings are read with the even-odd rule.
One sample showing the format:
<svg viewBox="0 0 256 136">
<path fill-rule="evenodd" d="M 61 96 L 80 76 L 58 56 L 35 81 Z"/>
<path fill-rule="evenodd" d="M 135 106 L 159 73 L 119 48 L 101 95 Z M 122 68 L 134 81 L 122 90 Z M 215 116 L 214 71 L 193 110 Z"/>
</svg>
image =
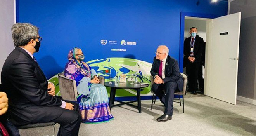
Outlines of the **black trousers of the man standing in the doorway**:
<svg viewBox="0 0 256 136">
<path fill-rule="evenodd" d="M 191 92 L 197 91 L 197 79 L 198 79 L 198 71 L 199 71 L 200 62 L 194 61 L 187 62 L 186 73 L 188 75 L 188 88 Z"/>
</svg>

